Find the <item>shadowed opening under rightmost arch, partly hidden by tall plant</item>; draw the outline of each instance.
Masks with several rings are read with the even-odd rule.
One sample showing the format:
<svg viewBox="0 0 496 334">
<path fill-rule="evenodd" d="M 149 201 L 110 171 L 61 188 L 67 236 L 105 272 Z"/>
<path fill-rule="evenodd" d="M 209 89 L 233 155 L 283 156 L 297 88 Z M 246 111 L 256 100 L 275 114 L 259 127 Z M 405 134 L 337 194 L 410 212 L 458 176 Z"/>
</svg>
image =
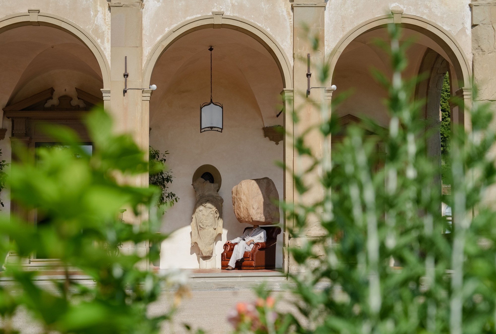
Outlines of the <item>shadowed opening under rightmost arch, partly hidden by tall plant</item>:
<svg viewBox="0 0 496 334">
<path fill-rule="evenodd" d="M 413 22 L 414 19 L 409 17 L 409 20 Z M 387 20 L 387 18 L 382 20 Z M 392 19 L 389 20 L 392 21 Z M 364 27 L 370 27 L 365 31 L 361 31 L 361 28 L 358 27 L 357 33 L 349 34 L 333 53 L 334 58 L 331 59 L 333 66 L 332 83 L 336 84 L 340 91 L 353 91 L 352 96 L 333 112 L 338 113 L 341 117 L 347 115 L 359 118 L 367 117 L 374 120 L 377 125 L 387 127 L 389 117 L 383 104 L 387 92 L 372 78 L 371 68 L 376 68 L 391 77 L 389 57 L 375 43 L 376 39 L 387 42 L 388 35 L 381 19 L 377 20 L 376 26 L 371 26 L 371 24 L 371 22 L 364 24 Z M 441 142 L 441 132 L 444 131 L 444 135 L 446 135 L 446 124 L 441 127 L 442 121 L 448 122 L 449 127 L 449 120 L 443 119 L 442 115 L 444 114 L 444 117 L 448 118 L 451 115 L 451 119 L 453 119 L 453 114 L 455 114 L 457 122 L 465 126 L 467 124 L 463 110 L 458 110 L 458 107 L 450 110 L 449 106 L 448 110 L 444 110 L 446 109 L 445 104 L 447 104 L 446 96 L 443 100 L 445 112 L 441 112 L 443 83 L 445 85 L 444 95 L 453 95 L 458 89 L 465 87 L 464 85 L 470 83 L 468 63 L 465 62 L 466 59 L 460 53 L 459 48 L 453 49 L 448 43 L 443 42 L 445 39 L 451 38 L 447 34 L 436 35 L 429 29 L 413 24 L 403 23 L 402 26 L 403 35 L 400 42 L 413 40 L 412 45 L 407 50 L 408 66 L 403 76 L 405 78 L 418 75 L 426 76 L 426 80 L 417 85 L 415 98 L 426 101 L 421 113 L 422 119 L 426 120 L 426 131 L 430 133 L 426 143 L 426 154 L 437 166 L 441 167 L 441 144 L 444 144 Z M 437 29 L 433 26 L 434 28 Z M 441 34 L 440 30 L 437 31 Z M 452 44 L 456 46 L 456 43 L 453 42 Z M 449 81 L 446 82 L 448 78 Z M 446 87 L 446 84 L 449 85 L 449 88 Z M 470 121 L 468 120 L 468 122 Z M 438 175 L 435 182 L 441 191 L 441 175 Z"/>
</svg>

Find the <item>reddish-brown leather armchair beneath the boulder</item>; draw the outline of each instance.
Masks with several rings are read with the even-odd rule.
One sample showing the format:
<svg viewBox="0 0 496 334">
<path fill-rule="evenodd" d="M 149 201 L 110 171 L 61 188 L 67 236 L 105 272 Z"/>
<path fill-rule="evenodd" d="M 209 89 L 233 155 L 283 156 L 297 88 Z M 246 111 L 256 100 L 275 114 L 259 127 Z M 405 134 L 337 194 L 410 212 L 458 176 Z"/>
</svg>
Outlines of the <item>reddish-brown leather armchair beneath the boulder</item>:
<svg viewBox="0 0 496 334">
<path fill-rule="evenodd" d="M 265 243 L 256 243 L 251 251 L 245 251 L 243 258 L 236 262 L 236 269 L 274 269 L 276 266 L 277 235 L 281 233 L 279 226 L 260 226 L 267 233 Z M 247 227 L 250 229 L 251 227 Z M 221 268 L 226 269 L 237 244 L 224 244 L 221 254 Z"/>
</svg>

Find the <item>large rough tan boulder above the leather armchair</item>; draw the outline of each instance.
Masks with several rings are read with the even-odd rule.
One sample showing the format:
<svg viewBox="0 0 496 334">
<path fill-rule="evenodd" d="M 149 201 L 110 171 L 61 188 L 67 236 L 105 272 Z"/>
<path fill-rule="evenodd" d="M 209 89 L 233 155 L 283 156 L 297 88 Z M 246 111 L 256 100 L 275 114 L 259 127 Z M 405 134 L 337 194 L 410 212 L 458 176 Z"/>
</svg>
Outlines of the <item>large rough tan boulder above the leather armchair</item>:
<svg viewBox="0 0 496 334">
<path fill-rule="evenodd" d="M 234 214 L 240 223 L 270 225 L 279 222 L 279 200 L 274 182 L 268 178 L 243 180 L 233 188 Z"/>
</svg>

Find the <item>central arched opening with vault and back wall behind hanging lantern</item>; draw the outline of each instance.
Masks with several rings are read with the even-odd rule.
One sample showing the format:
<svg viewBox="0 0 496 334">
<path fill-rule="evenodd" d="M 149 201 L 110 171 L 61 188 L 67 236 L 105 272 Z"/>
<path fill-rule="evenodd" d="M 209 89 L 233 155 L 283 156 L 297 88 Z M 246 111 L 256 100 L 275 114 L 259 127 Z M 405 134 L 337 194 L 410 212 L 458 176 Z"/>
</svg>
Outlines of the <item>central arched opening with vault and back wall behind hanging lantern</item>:
<svg viewBox="0 0 496 334">
<path fill-rule="evenodd" d="M 223 105 L 223 131 L 200 133 L 200 105 L 212 95 Z M 218 169 L 223 203 L 223 232 L 215 244 L 216 265 L 226 240 L 243 234 L 231 189 L 244 179 L 271 178 L 282 198 L 283 145 L 264 137 L 263 128 L 283 126 L 279 94 L 284 88 L 280 64 L 253 37 L 234 29 L 192 29 L 171 41 L 157 58 L 150 82 L 159 88 L 150 99 L 150 146 L 168 151 L 171 189 L 180 200 L 164 216 L 163 232 L 174 232 L 162 245 L 162 268 L 198 268 L 198 247 L 191 247 L 191 214 L 195 191 L 191 177 L 202 165 Z M 146 71 L 145 71 L 146 72 Z M 145 75 L 146 77 L 146 75 Z M 282 236 L 276 245 L 276 267 L 282 267 Z"/>
</svg>

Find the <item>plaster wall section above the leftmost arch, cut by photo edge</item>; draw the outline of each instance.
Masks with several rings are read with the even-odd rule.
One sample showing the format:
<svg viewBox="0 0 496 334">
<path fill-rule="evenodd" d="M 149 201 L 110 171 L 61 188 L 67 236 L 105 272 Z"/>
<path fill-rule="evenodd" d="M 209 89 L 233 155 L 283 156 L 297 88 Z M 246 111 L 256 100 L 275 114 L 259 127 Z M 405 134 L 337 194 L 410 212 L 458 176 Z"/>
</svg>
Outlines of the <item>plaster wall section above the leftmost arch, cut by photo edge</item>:
<svg viewBox="0 0 496 334">
<path fill-rule="evenodd" d="M 0 18 L 40 9 L 83 28 L 102 48 L 110 62 L 110 11 L 107 0 L 0 0 Z"/>
</svg>

